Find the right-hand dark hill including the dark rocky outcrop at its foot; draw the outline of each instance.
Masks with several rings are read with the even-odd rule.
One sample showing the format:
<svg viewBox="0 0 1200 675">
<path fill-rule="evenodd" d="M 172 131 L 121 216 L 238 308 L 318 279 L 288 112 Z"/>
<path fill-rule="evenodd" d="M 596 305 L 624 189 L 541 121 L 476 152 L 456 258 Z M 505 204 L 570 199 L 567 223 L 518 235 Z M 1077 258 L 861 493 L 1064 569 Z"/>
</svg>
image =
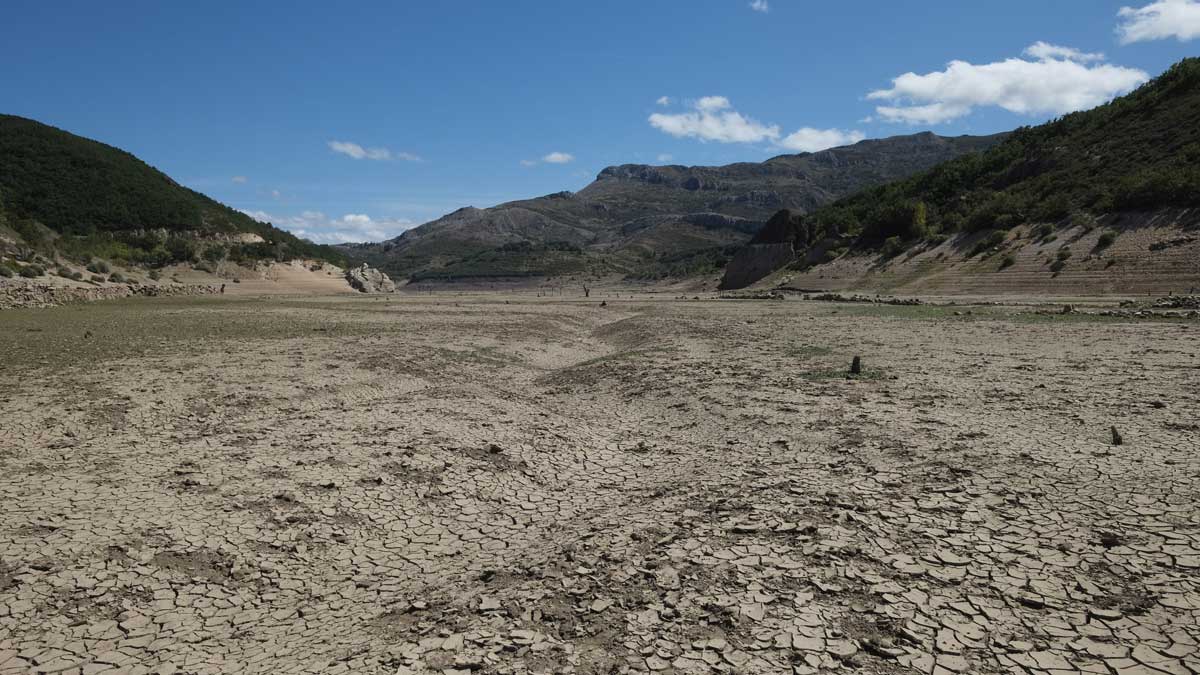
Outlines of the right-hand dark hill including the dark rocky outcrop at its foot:
<svg viewBox="0 0 1200 675">
<path fill-rule="evenodd" d="M 1061 232 L 1084 237 L 1108 227 L 1106 235 L 1094 235 L 1097 258 L 1138 222 L 1170 229 L 1162 217 L 1170 209 L 1182 209 L 1168 219 L 1174 227 L 1190 231 L 1194 207 L 1200 207 L 1195 58 L 1104 106 L 1019 129 L 984 153 L 796 214 L 790 228 L 740 251 L 722 286 L 744 286 L 780 265 L 804 270 L 838 258 L 878 256 L 872 265 L 880 271 L 935 249 L 943 259 L 972 264 L 1003 253 L 1001 269 L 1013 274 L 1021 269 L 1016 253 L 1025 244 L 1048 246 Z M 792 255 L 780 255 L 780 244 L 792 246 Z M 1159 250 L 1168 249 L 1177 246 Z M 1050 256 L 1046 275 L 1074 264 L 1066 262 L 1072 255 Z M 1153 256 L 1139 259 L 1151 264 Z M 926 267 L 926 273 L 937 268 Z"/>
</svg>

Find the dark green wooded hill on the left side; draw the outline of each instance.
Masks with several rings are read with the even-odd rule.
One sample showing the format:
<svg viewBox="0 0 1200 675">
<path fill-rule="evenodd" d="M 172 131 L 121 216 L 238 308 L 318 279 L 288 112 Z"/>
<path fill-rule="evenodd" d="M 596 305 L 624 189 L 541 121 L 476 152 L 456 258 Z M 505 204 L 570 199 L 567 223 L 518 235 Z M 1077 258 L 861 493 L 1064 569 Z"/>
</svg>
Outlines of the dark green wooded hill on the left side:
<svg viewBox="0 0 1200 675">
<path fill-rule="evenodd" d="M 0 213 L 26 244 L 80 258 L 176 262 L 194 257 L 194 241 L 204 239 L 246 258 L 344 257 L 184 187 L 124 150 L 14 115 L 0 115 Z M 160 259 L 163 251 L 170 259 Z"/>
</svg>

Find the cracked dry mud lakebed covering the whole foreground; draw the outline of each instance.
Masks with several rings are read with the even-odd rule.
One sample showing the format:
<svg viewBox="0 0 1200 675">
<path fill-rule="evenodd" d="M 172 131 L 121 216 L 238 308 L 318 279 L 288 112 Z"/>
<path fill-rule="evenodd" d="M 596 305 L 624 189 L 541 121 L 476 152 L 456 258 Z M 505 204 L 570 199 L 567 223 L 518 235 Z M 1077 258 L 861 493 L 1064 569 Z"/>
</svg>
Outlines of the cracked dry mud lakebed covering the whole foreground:
<svg viewBox="0 0 1200 675">
<path fill-rule="evenodd" d="M 600 300 L 0 315 L 0 673 L 1200 673 L 1200 322 Z"/>
</svg>

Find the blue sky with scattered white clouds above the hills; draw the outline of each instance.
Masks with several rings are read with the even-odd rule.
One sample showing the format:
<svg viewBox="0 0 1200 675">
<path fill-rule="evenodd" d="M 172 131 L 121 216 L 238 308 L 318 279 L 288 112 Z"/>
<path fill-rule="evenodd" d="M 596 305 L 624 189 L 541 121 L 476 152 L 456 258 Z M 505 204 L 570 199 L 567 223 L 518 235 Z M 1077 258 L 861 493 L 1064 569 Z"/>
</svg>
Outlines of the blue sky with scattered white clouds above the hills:
<svg viewBox="0 0 1200 675">
<path fill-rule="evenodd" d="M 610 165 L 1040 123 L 1196 54 L 1200 0 L 10 0 L 5 23 L 0 112 L 337 241 Z"/>
</svg>

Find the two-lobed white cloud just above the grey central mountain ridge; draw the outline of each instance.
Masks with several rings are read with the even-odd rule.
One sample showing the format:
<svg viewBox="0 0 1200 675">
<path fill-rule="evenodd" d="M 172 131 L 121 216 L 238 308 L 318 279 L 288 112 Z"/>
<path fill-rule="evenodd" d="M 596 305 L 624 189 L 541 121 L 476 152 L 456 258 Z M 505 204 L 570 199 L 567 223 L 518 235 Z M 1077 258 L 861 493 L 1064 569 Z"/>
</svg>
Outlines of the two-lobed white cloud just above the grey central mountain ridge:
<svg viewBox="0 0 1200 675">
<path fill-rule="evenodd" d="M 779 125 L 763 124 L 733 109 L 725 96 L 704 96 L 685 113 L 654 113 L 650 126 L 677 138 L 698 138 L 718 143 L 769 142 L 775 148 L 814 153 L 858 143 L 865 136 L 859 131 L 803 127 L 784 136 Z"/>
</svg>

